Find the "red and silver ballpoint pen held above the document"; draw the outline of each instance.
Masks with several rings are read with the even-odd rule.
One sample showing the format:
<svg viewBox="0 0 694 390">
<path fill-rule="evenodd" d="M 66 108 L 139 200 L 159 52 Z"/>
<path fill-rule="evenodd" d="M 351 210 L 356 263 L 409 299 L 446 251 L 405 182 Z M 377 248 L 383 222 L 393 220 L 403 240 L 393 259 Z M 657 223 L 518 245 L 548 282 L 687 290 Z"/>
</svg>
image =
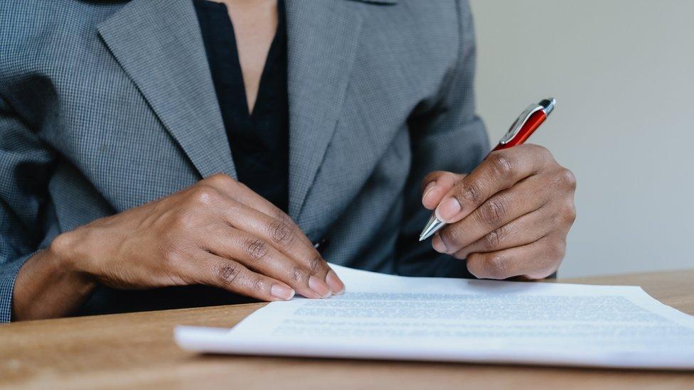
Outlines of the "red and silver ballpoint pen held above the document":
<svg viewBox="0 0 694 390">
<path fill-rule="evenodd" d="M 553 97 L 544 99 L 538 104 L 530 104 L 528 108 L 521 112 L 518 119 L 513 122 L 511 128 L 506 131 L 506 134 L 501 137 L 501 141 L 493 148 L 492 151 L 500 151 L 501 149 L 511 148 L 511 146 L 520 145 L 525 142 L 535 130 L 550 116 L 554 110 L 557 100 Z M 429 222 L 420 234 L 420 241 L 432 237 L 442 227 L 446 226 L 445 222 L 439 221 L 435 213 L 429 218 Z"/>
</svg>

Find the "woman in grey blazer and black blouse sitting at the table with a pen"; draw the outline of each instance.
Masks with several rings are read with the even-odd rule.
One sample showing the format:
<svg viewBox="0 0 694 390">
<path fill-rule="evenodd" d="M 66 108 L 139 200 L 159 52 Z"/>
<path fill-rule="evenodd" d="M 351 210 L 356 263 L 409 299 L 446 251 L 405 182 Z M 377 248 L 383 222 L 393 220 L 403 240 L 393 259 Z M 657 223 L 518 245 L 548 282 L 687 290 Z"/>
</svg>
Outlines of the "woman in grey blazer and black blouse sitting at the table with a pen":
<svg viewBox="0 0 694 390">
<path fill-rule="evenodd" d="M 2 321 L 564 255 L 570 171 L 481 161 L 466 1 L 2 0 L 0 26 Z"/>
</svg>

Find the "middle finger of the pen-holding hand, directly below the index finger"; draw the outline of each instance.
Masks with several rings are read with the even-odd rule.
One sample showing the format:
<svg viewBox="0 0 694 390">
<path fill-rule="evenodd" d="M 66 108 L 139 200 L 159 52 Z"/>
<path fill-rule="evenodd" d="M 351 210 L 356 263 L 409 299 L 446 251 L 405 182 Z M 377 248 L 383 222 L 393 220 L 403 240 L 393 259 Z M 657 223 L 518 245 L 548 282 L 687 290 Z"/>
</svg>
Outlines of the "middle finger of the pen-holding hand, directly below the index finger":
<svg viewBox="0 0 694 390">
<path fill-rule="evenodd" d="M 516 218 L 540 209 L 548 201 L 548 195 L 539 184 L 540 179 L 528 178 L 492 195 L 462 220 L 444 227 L 432 239 L 432 246 L 439 252 L 453 254 Z M 543 235 L 547 233 L 544 230 Z"/>
</svg>

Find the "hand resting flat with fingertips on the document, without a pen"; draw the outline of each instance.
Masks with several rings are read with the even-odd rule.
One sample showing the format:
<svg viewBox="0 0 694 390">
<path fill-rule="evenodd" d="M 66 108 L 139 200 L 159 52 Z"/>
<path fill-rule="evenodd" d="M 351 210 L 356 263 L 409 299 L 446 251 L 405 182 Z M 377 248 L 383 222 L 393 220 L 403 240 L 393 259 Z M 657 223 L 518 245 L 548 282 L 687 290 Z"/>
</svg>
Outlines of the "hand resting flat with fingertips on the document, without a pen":
<svg viewBox="0 0 694 390">
<path fill-rule="evenodd" d="M 113 288 L 204 284 L 261 300 L 344 291 L 289 216 L 221 174 L 60 234 L 48 251 L 84 280 Z"/>
</svg>

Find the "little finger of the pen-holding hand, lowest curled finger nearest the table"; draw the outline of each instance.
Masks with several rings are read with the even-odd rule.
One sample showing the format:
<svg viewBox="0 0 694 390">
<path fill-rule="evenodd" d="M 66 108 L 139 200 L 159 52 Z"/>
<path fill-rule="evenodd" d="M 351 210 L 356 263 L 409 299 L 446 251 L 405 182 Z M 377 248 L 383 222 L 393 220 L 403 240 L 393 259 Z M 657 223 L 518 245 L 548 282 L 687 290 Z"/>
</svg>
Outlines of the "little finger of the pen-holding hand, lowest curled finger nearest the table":
<svg viewBox="0 0 694 390">
<path fill-rule="evenodd" d="M 467 269 L 477 278 L 485 279 L 546 278 L 559 268 L 565 249 L 563 239 L 545 236 L 521 247 L 470 254 Z"/>
</svg>

